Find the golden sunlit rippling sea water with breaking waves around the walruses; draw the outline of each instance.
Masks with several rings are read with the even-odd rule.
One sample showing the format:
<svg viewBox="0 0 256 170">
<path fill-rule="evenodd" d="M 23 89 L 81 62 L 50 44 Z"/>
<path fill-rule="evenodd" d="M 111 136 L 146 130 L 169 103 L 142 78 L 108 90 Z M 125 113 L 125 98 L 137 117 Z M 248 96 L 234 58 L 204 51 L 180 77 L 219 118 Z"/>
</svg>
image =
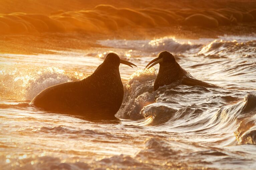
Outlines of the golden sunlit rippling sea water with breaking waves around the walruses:
<svg viewBox="0 0 256 170">
<path fill-rule="evenodd" d="M 255 169 L 256 41 L 248 37 L 103 40 L 54 54 L 1 54 L 1 169 Z M 153 91 L 163 50 L 195 78 L 221 88 L 174 84 Z M 119 121 L 43 112 L 43 89 L 90 75 L 109 52 L 124 84 Z"/>
</svg>

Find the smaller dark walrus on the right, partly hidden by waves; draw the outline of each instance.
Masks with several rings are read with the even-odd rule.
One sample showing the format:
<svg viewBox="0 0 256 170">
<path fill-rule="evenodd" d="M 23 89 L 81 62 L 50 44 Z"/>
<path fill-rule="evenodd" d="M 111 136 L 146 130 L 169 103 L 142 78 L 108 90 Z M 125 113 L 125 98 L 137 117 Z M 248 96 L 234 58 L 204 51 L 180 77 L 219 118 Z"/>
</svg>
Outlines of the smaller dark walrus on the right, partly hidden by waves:
<svg viewBox="0 0 256 170">
<path fill-rule="evenodd" d="M 157 78 L 154 83 L 154 90 L 164 85 L 169 85 L 174 82 L 180 82 L 180 84 L 189 86 L 204 86 L 204 87 L 218 87 L 216 85 L 203 82 L 201 80 L 195 79 L 189 72 L 184 70 L 175 60 L 174 56 L 168 52 L 163 51 L 159 56 L 146 66 L 148 69 L 156 64 L 160 65 Z"/>
</svg>

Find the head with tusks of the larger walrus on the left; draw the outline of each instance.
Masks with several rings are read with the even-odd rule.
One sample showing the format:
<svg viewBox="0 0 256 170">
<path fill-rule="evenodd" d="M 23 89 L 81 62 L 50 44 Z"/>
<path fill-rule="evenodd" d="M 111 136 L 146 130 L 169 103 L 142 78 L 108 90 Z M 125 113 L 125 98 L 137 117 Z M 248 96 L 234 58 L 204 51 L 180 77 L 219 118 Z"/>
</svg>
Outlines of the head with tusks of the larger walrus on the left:
<svg viewBox="0 0 256 170">
<path fill-rule="evenodd" d="M 113 52 L 110 52 L 109 54 L 107 54 L 105 60 L 104 60 L 104 64 L 107 64 L 108 66 L 111 67 L 119 67 L 119 65 L 121 64 L 125 64 L 128 65 L 130 67 L 136 66 L 134 63 L 120 59 L 119 56 Z"/>
</svg>

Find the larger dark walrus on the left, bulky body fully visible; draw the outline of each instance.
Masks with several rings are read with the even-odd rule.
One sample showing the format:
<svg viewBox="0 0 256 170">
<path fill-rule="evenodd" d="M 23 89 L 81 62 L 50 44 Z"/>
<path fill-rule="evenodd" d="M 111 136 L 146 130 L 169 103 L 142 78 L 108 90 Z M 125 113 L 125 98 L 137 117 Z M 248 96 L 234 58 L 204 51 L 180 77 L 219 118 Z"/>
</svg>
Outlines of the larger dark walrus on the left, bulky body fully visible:
<svg viewBox="0 0 256 170">
<path fill-rule="evenodd" d="M 123 100 L 119 65 L 135 64 L 109 53 L 89 77 L 51 86 L 40 92 L 30 104 L 46 111 L 86 116 L 92 119 L 116 119 Z"/>
</svg>

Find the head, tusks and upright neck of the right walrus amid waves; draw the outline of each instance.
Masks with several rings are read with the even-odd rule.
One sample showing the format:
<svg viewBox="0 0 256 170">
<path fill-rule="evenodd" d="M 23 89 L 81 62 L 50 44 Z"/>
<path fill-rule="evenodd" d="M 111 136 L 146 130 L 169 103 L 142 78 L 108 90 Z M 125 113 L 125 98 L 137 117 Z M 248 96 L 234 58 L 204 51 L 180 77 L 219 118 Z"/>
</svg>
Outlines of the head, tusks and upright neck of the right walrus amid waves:
<svg viewBox="0 0 256 170">
<path fill-rule="evenodd" d="M 173 54 L 168 51 L 161 52 L 157 58 L 148 63 L 146 68 L 149 66 L 149 69 L 158 63 L 160 67 L 154 83 L 154 90 L 157 90 L 161 86 L 173 83 L 174 81 L 180 79 L 180 75 L 183 74 L 183 69 L 176 62 Z"/>
</svg>

